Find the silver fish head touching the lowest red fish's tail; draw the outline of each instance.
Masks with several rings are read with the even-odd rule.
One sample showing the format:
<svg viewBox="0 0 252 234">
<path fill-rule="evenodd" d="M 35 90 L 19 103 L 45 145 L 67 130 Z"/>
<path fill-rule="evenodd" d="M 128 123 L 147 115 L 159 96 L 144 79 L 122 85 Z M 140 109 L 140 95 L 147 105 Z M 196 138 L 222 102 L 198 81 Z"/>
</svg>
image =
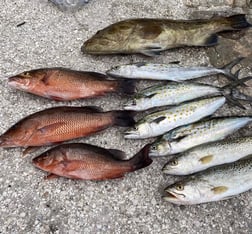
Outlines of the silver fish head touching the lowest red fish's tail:
<svg viewBox="0 0 252 234">
<path fill-rule="evenodd" d="M 171 152 L 171 145 L 169 141 L 166 141 L 165 139 L 158 139 L 152 145 L 150 146 L 150 156 L 165 156 L 170 154 Z"/>
</svg>

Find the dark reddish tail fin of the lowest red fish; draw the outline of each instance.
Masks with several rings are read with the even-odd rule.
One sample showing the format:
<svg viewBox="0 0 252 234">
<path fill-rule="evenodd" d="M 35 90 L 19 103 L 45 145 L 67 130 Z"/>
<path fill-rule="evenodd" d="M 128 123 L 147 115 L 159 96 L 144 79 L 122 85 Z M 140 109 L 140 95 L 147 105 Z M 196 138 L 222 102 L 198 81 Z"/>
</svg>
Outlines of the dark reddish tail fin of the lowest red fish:
<svg viewBox="0 0 252 234">
<path fill-rule="evenodd" d="M 149 157 L 149 148 L 150 144 L 147 144 L 129 160 L 133 171 L 147 167 L 152 163 L 152 159 Z"/>
</svg>

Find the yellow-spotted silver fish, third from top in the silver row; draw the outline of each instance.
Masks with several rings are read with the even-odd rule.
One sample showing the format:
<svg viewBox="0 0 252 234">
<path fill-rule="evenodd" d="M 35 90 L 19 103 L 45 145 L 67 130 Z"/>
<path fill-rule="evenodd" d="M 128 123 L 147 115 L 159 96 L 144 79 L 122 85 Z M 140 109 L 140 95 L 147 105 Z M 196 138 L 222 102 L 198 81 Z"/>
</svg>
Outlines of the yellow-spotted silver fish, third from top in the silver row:
<svg viewBox="0 0 252 234">
<path fill-rule="evenodd" d="M 126 139 L 145 139 L 162 135 L 174 128 L 212 115 L 224 105 L 225 101 L 225 97 L 207 98 L 154 112 L 142 118 L 134 127 L 129 128 L 124 137 Z"/>
</svg>

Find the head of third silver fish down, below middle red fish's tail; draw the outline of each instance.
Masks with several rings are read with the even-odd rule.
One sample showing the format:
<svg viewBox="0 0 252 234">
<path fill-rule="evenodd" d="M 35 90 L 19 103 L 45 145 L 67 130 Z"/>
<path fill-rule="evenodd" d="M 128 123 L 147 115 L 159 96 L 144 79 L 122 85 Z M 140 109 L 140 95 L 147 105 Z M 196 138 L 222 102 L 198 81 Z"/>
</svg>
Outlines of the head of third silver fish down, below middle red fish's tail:
<svg viewBox="0 0 252 234">
<path fill-rule="evenodd" d="M 150 125 L 140 121 L 134 127 L 129 128 L 124 134 L 126 139 L 144 139 L 148 138 L 151 133 Z"/>
</svg>

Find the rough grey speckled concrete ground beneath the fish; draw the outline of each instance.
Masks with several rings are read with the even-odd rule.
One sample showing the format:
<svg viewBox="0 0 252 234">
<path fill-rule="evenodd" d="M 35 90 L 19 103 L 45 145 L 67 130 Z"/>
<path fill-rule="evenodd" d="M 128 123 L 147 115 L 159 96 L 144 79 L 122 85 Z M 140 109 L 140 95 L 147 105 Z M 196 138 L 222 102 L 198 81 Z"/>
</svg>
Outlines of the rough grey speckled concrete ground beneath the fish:
<svg viewBox="0 0 252 234">
<path fill-rule="evenodd" d="M 132 61 L 180 60 L 188 65 L 208 65 L 209 61 L 217 64 L 218 61 L 224 65 L 225 59 L 232 59 L 232 48 L 224 51 L 226 57 L 222 57 L 221 49 L 219 55 L 213 53 L 214 48 L 176 49 L 155 58 L 83 55 L 80 52 L 83 41 L 110 23 L 131 17 L 192 19 L 235 12 L 248 14 L 252 22 L 251 5 L 251 1 L 230 0 L 91 0 L 73 14 L 59 11 L 47 0 L 0 1 L 0 133 L 28 114 L 65 105 L 10 89 L 5 78 L 25 70 L 62 66 L 104 72 L 112 65 Z M 23 22 L 24 25 L 17 27 Z M 243 43 L 243 38 L 244 34 L 239 34 L 233 42 Z M 247 43 L 245 50 L 238 49 L 235 55 L 251 54 L 251 37 Z M 247 62 L 242 74 L 251 72 L 249 65 Z M 219 78 L 222 80 L 219 83 L 216 76 L 211 81 L 204 80 L 222 84 L 225 79 Z M 138 88 L 150 84 L 139 82 Z M 110 110 L 121 109 L 125 101 L 124 97 L 110 95 L 67 105 L 97 105 Z M 246 107 L 247 111 L 241 111 L 225 105 L 216 115 L 251 115 L 251 105 Z M 126 141 L 123 131 L 123 128 L 111 128 L 80 141 L 123 149 L 129 157 L 148 142 Z M 248 135 L 250 131 L 248 126 L 234 136 Z M 164 187 L 177 179 L 162 174 L 166 158 L 155 159 L 148 168 L 130 173 L 124 179 L 45 181 L 45 173 L 31 164 L 32 157 L 43 150 L 26 158 L 21 158 L 20 148 L 0 150 L 0 233 L 251 233 L 251 192 L 196 206 L 164 202 L 161 198 Z"/>
</svg>

